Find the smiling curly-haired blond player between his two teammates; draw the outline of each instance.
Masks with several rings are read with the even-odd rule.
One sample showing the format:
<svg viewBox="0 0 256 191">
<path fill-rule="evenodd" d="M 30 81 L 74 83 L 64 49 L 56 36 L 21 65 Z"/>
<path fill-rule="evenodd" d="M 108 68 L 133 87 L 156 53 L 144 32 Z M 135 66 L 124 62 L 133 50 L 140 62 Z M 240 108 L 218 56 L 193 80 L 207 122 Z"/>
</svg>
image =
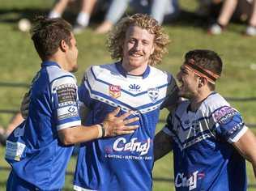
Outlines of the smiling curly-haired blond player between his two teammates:
<svg viewBox="0 0 256 191">
<path fill-rule="evenodd" d="M 82 144 L 75 190 L 151 190 L 153 138 L 161 107 L 177 102 L 173 76 L 156 69 L 169 38 L 148 15 L 128 16 L 110 33 L 109 52 L 119 61 L 87 70 L 79 100 L 89 110 L 86 124 L 101 121 L 117 106 L 134 111 L 134 134 Z"/>
</svg>

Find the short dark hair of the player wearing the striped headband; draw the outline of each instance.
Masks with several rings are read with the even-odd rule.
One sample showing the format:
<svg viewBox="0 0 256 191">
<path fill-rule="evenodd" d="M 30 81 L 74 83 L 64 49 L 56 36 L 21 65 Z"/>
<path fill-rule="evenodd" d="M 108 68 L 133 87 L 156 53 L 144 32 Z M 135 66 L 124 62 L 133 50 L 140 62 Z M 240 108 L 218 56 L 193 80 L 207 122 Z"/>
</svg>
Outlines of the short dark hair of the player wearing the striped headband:
<svg viewBox="0 0 256 191">
<path fill-rule="evenodd" d="M 194 65 L 200 66 L 204 69 L 210 70 L 214 74 L 220 76 L 222 72 L 222 60 L 220 56 L 212 50 L 208 49 L 194 49 L 186 53 L 185 62 L 190 59 L 194 60 Z M 208 83 L 211 90 L 215 90 L 215 85 Z"/>
</svg>

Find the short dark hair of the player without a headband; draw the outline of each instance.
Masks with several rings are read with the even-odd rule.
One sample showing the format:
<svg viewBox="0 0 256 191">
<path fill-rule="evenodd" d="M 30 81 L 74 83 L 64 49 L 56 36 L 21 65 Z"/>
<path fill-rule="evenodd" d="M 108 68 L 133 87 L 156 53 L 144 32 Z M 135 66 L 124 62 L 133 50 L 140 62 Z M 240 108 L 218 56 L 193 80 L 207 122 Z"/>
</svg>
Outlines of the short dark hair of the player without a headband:
<svg viewBox="0 0 256 191">
<path fill-rule="evenodd" d="M 31 36 L 35 48 L 42 61 L 49 59 L 58 51 L 62 40 L 70 44 L 72 27 L 61 18 L 49 19 L 39 16 L 31 29 Z"/>
</svg>

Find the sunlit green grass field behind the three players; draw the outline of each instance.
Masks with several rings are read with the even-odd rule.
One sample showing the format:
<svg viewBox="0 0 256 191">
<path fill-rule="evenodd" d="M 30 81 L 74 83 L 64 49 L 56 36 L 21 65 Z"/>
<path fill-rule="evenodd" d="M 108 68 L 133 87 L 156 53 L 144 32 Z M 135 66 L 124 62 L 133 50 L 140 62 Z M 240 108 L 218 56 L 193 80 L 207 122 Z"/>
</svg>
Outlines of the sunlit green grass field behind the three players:
<svg viewBox="0 0 256 191">
<path fill-rule="evenodd" d="M 165 26 L 172 43 L 169 54 L 164 57 L 162 70 L 177 73 L 184 54 L 190 49 L 212 49 L 220 53 L 224 61 L 224 73 L 217 83 L 217 91 L 225 97 L 256 97 L 256 37 L 241 36 L 245 24 L 231 23 L 228 30 L 221 36 L 208 36 L 205 32 L 207 23 L 191 16 L 197 4 L 192 0 L 181 0 L 181 7 L 186 15 L 176 23 Z M 32 46 L 28 33 L 19 32 L 17 21 L 22 17 L 31 19 L 34 15 L 46 14 L 52 6 L 52 0 L 0 0 L 0 84 L 30 83 L 35 72 L 40 68 L 40 59 Z M 95 35 L 93 29 L 97 23 L 92 23 L 83 34 L 76 36 L 79 47 L 79 71 L 75 74 L 78 81 L 84 70 L 90 65 L 100 65 L 112 62 L 105 49 L 105 35 Z M 6 87 L 1 85 L 0 110 L 18 110 L 21 97 L 27 91 L 24 87 Z M 256 124 L 256 100 L 232 101 L 241 111 L 246 123 Z M 161 113 L 164 119 L 167 112 Z M 0 113 L 0 124 L 6 126 L 11 119 L 10 113 Z M 158 129 L 163 124 L 158 125 Z M 254 130 L 256 133 L 256 131 Z M 5 190 L 8 165 L 3 159 L 4 150 L 0 149 L 0 190 Z M 167 155 L 155 164 L 154 190 L 173 190 L 173 184 L 168 181 L 173 178 L 172 157 Z M 71 159 L 69 172 L 74 171 L 75 159 Z M 256 184 L 252 168 L 248 166 L 250 185 Z M 72 176 L 66 176 L 65 190 L 71 190 Z M 250 191 L 255 190 L 249 188 Z"/>
</svg>

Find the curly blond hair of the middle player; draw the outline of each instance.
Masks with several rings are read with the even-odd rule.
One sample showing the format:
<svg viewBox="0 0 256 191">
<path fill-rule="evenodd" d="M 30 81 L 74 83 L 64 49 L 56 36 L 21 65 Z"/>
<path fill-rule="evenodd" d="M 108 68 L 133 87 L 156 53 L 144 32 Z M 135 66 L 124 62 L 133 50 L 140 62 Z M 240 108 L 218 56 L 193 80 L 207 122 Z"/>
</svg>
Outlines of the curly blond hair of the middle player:
<svg viewBox="0 0 256 191">
<path fill-rule="evenodd" d="M 160 64 L 164 53 L 168 53 L 167 45 L 169 44 L 169 36 L 164 32 L 164 29 L 149 15 L 134 14 L 126 16 L 109 32 L 107 47 L 113 59 L 122 59 L 123 48 L 126 31 L 131 26 L 138 26 L 146 29 L 155 36 L 154 38 L 154 53 L 151 54 L 148 65 L 156 66 Z"/>
</svg>

